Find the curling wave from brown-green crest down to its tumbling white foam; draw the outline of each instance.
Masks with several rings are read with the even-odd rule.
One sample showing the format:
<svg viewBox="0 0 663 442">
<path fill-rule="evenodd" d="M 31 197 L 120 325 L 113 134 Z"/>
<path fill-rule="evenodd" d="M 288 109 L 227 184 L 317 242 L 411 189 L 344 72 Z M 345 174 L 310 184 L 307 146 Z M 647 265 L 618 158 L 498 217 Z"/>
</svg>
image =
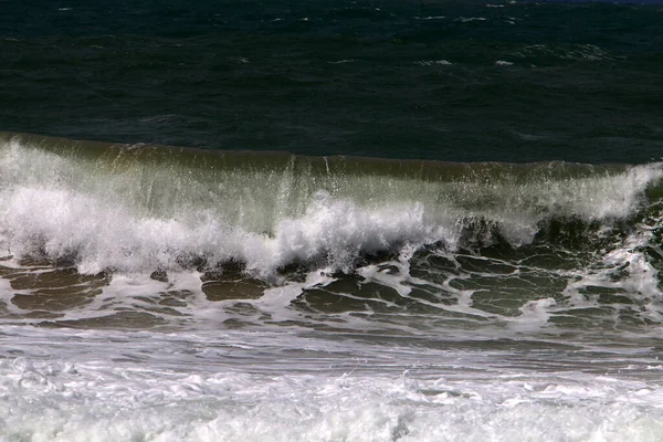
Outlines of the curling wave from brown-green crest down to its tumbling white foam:
<svg viewBox="0 0 663 442">
<path fill-rule="evenodd" d="M 82 273 L 293 264 L 657 228 L 660 164 L 453 164 L 0 134 L 0 243 Z M 648 221 L 649 220 L 649 221 Z M 568 244 L 567 244 L 568 245 Z M 597 243 L 590 244 L 596 246 Z"/>
</svg>

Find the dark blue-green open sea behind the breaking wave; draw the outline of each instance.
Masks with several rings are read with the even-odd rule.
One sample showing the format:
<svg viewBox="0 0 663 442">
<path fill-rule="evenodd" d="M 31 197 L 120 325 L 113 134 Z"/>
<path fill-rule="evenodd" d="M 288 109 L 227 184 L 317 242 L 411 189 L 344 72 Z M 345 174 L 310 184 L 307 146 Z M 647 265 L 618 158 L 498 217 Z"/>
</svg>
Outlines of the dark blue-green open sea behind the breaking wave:
<svg viewBox="0 0 663 442">
<path fill-rule="evenodd" d="M 2 8 L 2 130 L 453 161 L 663 155 L 660 4 Z"/>
</svg>

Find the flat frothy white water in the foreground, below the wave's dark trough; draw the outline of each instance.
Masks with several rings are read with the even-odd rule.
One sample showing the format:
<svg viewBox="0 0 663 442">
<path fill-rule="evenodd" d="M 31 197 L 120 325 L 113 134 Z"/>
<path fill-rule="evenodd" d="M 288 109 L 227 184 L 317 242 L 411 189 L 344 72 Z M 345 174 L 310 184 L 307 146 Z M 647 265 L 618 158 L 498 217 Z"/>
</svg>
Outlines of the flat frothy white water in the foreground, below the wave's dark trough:
<svg viewBox="0 0 663 442">
<path fill-rule="evenodd" d="M 453 340 L 434 350 L 280 333 L 25 327 L 6 327 L 0 343 L 8 441 L 663 438 L 663 366 L 627 350 L 555 357 Z"/>
</svg>

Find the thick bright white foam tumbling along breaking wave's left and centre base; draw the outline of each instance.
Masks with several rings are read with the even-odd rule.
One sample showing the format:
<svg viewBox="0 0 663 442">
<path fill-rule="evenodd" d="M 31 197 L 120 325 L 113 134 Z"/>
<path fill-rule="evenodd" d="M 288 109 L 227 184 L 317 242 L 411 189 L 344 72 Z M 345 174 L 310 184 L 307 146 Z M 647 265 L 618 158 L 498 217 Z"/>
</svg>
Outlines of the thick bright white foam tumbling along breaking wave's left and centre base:
<svg viewBox="0 0 663 442">
<path fill-rule="evenodd" d="M 269 276 L 295 261 L 326 255 L 336 265 L 358 253 L 389 249 L 409 240 L 444 238 L 423 222 L 420 204 L 362 210 L 348 200 L 318 193 L 299 219 L 284 219 L 273 236 L 242 231 L 209 217 L 188 220 L 136 218 L 122 206 L 107 207 L 85 194 L 20 188 L 2 198 L 4 243 L 15 255 L 44 253 L 52 260 L 77 256 L 82 273 L 105 269 L 136 272 L 177 269 L 182 255 L 211 262 L 241 260 Z"/>
</svg>

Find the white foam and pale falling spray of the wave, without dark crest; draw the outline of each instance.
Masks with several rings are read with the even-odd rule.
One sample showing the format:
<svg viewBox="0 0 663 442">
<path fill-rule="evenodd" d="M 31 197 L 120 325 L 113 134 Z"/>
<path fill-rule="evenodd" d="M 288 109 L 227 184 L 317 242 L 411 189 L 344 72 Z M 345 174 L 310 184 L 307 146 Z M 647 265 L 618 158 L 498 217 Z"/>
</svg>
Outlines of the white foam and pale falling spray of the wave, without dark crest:
<svg viewBox="0 0 663 442">
<path fill-rule="evenodd" d="M 527 182 L 296 178 L 286 168 L 221 173 L 210 185 L 204 173 L 168 164 L 91 164 L 13 138 L 0 146 L 0 253 L 73 259 L 84 274 L 178 270 L 182 259 L 204 256 L 211 266 L 244 262 L 274 281 L 291 263 L 348 270 L 361 254 L 403 244 L 453 250 L 477 219 L 514 245 L 530 242 L 550 215 L 609 225 L 640 207 L 663 170 L 648 165 Z"/>
</svg>

